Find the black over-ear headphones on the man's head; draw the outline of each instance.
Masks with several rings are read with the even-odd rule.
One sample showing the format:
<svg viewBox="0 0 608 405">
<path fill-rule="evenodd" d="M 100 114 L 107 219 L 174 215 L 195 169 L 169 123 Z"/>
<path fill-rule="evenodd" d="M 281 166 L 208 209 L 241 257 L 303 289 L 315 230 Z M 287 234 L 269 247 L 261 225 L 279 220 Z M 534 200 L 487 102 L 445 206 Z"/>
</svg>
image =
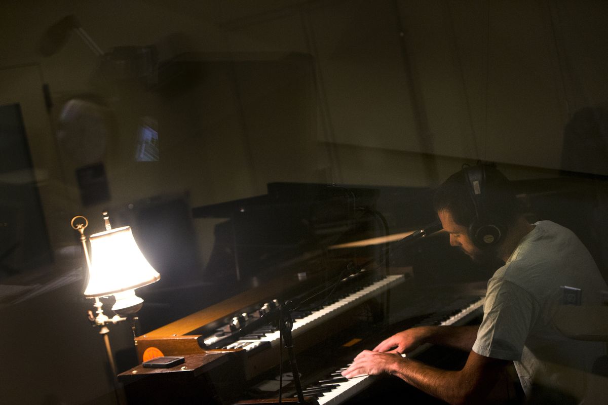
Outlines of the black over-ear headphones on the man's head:
<svg viewBox="0 0 608 405">
<path fill-rule="evenodd" d="M 484 165 L 469 166 L 463 169 L 467 182 L 467 189 L 475 208 L 475 218 L 469 225 L 469 237 L 480 249 L 496 247 L 506 234 L 506 225 L 502 221 L 492 218 L 485 206 L 486 170 Z"/>
</svg>

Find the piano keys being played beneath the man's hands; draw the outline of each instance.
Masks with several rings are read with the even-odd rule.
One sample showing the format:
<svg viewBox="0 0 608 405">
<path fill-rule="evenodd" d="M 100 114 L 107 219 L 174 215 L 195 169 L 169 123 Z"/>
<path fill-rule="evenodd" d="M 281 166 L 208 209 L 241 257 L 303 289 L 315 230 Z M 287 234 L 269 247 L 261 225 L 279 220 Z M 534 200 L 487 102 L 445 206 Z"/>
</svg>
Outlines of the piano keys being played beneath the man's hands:
<svg viewBox="0 0 608 405">
<path fill-rule="evenodd" d="M 477 316 L 480 308 L 483 307 L 483 301 L 485 298 L 481 298 L 478 301 L 473 302 L 468 307 L 457 313 L 450 313 L 451 315 L 445 315 L 442 311 L 443 316 L 433 315 L 429 318 L 424 319 L 422 322 L 414 326 L 423 325 L 462 325 L 470 321 L 472 318 Z M 418 353 L 430 347 L 430 344 L 423 345 L 416 350 L 408 353 L 408 356 L 415 357 Z M 403 355 L 405 356 L 405 355 Z M 313 386 L 304 389 L 304 396 L 315 396 L 319 405 L 336 405 L 344 402 L 348 398 L 356 393 L 361 392 L 366 387 L 370 386 L 375 380 L 376 376 L 359 376 L 356 378 L 347 379 L 341 375 L 342 370 L 346 367 L 336 370 L 331 373 L 327 379 L 322 379 Z"/>
</svg>

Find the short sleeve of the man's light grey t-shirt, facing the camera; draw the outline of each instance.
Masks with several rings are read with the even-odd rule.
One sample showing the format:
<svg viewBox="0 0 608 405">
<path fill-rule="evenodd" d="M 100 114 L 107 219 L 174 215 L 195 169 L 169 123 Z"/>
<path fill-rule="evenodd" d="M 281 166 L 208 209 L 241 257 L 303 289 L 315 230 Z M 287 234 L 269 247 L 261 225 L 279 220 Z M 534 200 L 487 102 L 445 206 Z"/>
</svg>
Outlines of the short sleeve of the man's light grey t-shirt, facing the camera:
<svg viewBox="0 0 608 405">
<path fill-rule="evenodd" d="M 518 361 L 534 318 L 534 299 L 502 277 L 488 282 L 483 321 L 473 351 L 478 355 Z"/>
</svg>

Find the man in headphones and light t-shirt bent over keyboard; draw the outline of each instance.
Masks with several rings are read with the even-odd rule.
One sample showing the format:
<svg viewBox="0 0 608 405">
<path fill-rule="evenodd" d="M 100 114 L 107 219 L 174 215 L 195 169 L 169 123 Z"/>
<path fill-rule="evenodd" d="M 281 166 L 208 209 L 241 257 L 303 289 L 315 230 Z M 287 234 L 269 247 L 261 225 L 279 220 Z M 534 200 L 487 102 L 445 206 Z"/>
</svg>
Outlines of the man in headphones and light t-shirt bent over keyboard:
<svg viewBox="0 0 608 405">
<path fill-rule="evenodd" d="M 360 353 L 342 374 L 389 373 L 441 400 L 470 404 L 483 403 L 513 361 L 528 398 L 542 391 L 550 393 L 544 400 L 557 394 L 561 403 L 581 401 L 587 372 L 605 345 L 567 338 L 556 314 L 562 287 L 580 288 L 583 304 L 595 304 L 606 284 L 580 240 L 556 223 L 529 223 L 510 182 L 489 166 L 452 175 L 435 193 L 434 206 L 452 246 L 476 261 L 505 262 L 488 282 L 482 324 L 405 330 Z M 470 352 L 463 369 L 401 356 L 426 342 Z"/>
</svg>

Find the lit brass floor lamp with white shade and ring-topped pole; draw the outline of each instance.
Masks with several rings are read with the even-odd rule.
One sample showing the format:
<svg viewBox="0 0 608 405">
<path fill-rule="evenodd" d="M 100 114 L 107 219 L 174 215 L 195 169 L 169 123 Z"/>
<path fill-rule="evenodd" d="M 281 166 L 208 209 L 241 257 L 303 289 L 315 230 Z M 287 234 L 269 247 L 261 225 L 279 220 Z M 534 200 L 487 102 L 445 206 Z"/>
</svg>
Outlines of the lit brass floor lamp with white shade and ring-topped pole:
<svg viewBox="0 0 608 405">
<path fill-rule="evenodd" d="M 135 289 L 152 284 L 161 278 L 161 275 L 152 268 L 143 257 L 133 238 L 130 226 L 112 229 L 108 213 L 103 213 L 106 230 L 89 237 L 91 249 L 87 248 L 85 228 L 88 221 L 85 217 L 72 218 L 72 228 L 80 232 L 80 241 L 85 250 L 86 264 L 89 270 L 89 279 L 85 289 L 86 298 L 95 299 L 97 317 L 93 318 L 89 311 L 89 319 L 100 327 L 99 333 L 103 335 L 108 354 L 108 361 L 112 369 L 112 380 L 116 384 L 116 366 L 109 345 L 108 327 L 106 324 L 124 321 L 126 316 L 133 322 L 135 314 L 142 307 L 143 299 L 135 294 Z M 77 221 L 78 220 L 78 221 Z M 116 303 L 112 310 L 116 312 L 112 318 L 103 313 L 100 297 L 113 295 Z M 135 333 L 134 333 L 135 336 Z M 117 390 L 118 392 L 118 390 Z M 118 394 L 117 394 L 118 395 Z M 122 402 L 119 399 L 119 403 Z"/>
</svg>

